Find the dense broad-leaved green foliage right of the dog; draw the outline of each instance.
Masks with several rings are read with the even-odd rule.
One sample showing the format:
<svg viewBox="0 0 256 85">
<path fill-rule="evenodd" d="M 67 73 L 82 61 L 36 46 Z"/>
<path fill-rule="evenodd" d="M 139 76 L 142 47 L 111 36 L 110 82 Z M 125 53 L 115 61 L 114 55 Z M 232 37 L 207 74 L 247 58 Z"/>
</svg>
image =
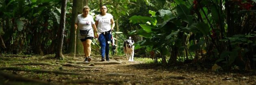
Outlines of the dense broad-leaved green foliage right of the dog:
<svg viewBox="0 0 256 85">
<path fill-rule="evenodd" d="M 255 62 L 252 61 L 252 54 L 255 55 L 253 49 L 255 49 L 254 39 L 256 38 L 252 24 L 255 25 L 255 23 L 245 23 L 245 19 L 256 19 L 252 17 L 256 13 L 248 8 L 255 3 L 246 0 L 231 2 L 232 4 L 240 3 L 232 8 L 227 5 L 231 3 L 225 1 L 174 0 L 175 3 L 171 2 L 173 1 L 165 2 L 170 4 L 169 10 L 161 9 L 157 12 L 150 10 L 151 17 L 139 15 L 130 17 L 132 24 L 139 23 L 141 27 L 130 33 L 143 36 L 143 40 L 136 43 L 136 49 L 145 48 L 148 53 L 156 50 L 162 56 L 169 54 L 169 62 L 175 62 L 179 55 L 186 52 L 186 54 L 194 54 L 197 60 L 198 55 L 202 55 L 202 51 L 205 50 L 205 53 L 211 54 L 206 55 L 208 58 L 217 55 L 218 57 L 211 57 L 212 60 L 217 60 L 216 63 L 222 62 L 225 68 L 241 63 L 248 64 L 248 62 L 242 62 L 243 60 Z M 246 2 L 247 7 L 245 7 Z M 223 8 L 224 5 L 225 8 Z M 226 14 L 227 10 L 230 13 Z M 230 17 L 232 12 L 239 15 Z M 227 16 L 234 21 L 227 19 Z M 245 30 L 245 28 L 251 30 Z M 239 62 L 238 57 L 243 60 L 240 59 L 241 62 Z"/>
</svg>

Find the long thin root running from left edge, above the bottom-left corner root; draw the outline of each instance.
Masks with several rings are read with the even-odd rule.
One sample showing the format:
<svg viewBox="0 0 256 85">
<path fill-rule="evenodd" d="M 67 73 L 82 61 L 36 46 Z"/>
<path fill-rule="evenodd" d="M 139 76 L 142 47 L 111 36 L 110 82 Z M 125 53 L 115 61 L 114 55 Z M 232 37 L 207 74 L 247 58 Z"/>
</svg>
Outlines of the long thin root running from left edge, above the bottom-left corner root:
<svg viewBox="0 0 256 85">
<path fill-rule="evenodd" d="M 56 70 L 30 70 L 26 68 L 19 68 L 19 67 L 5 67 L 0 68 L 0 70 L 14 70 L 14 71 L 26 71 L 26 72 L 36 72 L 36 73 L 54 73 L 54 74 L 69 74 L 69 75 L 91 75 L 92 74 L 81 74 L 81 73 L 75 73 L 75 72 L 63 72 L 63 71 L 56 71 Z"/>
</svg>

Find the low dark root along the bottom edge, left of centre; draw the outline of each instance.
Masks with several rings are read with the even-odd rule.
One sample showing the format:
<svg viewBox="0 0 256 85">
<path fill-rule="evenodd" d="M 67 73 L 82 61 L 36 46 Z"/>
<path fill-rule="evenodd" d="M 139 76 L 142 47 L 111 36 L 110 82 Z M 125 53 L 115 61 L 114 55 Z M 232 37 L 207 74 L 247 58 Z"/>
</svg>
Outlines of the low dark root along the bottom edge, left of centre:
<svg viewBox="0 0 256 85">
<path fill-rule="evenodd" d="M 66 81 L 64 84 L 69 84 L 69 83 L 92 83 L 92 84 L 98 84 L 98 85 L 109 85 L 109 84 L 114 84 L 114 85 L 122 85 L 122 81 L 102 81 L 102 82 L 97 82 L 97 81 L 91 81 L 89 79 L 81 79 L 81 80 L 71 80 L 71 81 Z"/>
</svg>

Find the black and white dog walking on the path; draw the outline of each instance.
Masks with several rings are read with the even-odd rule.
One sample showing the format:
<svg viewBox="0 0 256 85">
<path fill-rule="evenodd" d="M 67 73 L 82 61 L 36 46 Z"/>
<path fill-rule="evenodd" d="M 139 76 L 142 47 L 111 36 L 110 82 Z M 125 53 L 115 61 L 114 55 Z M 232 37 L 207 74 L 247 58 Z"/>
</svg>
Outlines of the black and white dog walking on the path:
<svg viewBox="0 0 256 85">
<path fill-rule="evenodd" d="M 134 56 L 134 41 L 131 40 L 131 37 L 129 39 L 124 41 L 124 54 L 126 55 L 126 59 L 129 62 L 133 62 L 133 56 Z"/>
</svg>

